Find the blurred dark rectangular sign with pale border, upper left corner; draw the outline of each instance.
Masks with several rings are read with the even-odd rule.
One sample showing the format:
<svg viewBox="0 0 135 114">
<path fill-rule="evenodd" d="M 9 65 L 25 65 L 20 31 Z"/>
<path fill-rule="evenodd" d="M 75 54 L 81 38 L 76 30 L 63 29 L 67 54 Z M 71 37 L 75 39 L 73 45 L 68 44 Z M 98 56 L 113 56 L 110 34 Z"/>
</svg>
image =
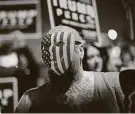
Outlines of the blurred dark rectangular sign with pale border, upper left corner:
<svg viewBox="0 0 135 114">
<path fill-rule="evenodd" d="M 24 38 L 40 38 L 41 19 L 38 0 L 0 1 L 0 38 L 17 34 Z M 15 32 L 16 33 L 16 32 Z"/>
</svg>

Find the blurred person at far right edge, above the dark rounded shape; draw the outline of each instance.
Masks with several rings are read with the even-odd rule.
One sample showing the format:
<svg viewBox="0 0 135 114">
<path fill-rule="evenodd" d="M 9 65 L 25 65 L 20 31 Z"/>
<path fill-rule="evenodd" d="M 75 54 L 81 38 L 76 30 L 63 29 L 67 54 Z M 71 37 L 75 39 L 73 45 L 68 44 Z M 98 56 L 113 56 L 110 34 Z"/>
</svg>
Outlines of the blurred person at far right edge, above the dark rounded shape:
<svg viewBox="0 0 135 114">
<path fill-rule="evenodd" d="M 129 46 L 126 45 L 121 48 L 120 57 L 122 60 L 121 71 L 126 69 L 135 69 L 134 55 L 131 53 Z"/>
</svg>

